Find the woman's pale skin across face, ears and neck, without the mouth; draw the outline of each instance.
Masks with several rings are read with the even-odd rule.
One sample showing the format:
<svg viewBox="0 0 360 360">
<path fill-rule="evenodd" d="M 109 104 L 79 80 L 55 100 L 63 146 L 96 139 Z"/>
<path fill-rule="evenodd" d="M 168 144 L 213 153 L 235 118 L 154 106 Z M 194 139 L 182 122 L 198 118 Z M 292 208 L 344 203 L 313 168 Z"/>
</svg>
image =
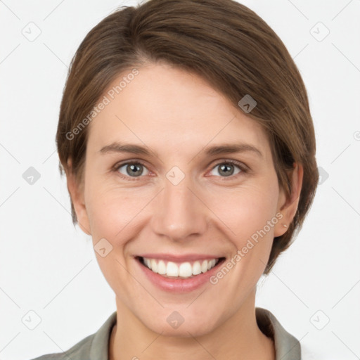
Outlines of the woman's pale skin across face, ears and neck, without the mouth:
<svg viewBox="0 0 360 360">
<path fill-rule="evenodd" d="M 82 230 L 94 245 L 105 238 L 113 246 L 106 257 L 96 252 L 116 296 L 109 359 L 274 360 L 274 343 L 256 323 L 256 284 L 274 237 L 297 210 L 302 166 L 295 165 L 286 196 L 262 127 L 204 79 L 165 63 L 141 66 L 88 131 L 84 180 L 77 184 L 68 172 L 68 189 Z M 100 151 L 115 142 L 144 146 L 150 155 Z M 205 154 L 233 143 L 259 153 Z M 141 162 L 139 176 L 125 165 L 131 161 Z M 231 176 L 221 172 L 224 164 Z M 185 175 L 177 185 L 166 176 L 174 166 Z M 134 259 L 144 252 L 231 259 L 279 212 L 281 221 L 215 285 L 184 294 L 160 290 Z M 176 329 L 167 322 L 173 311 L 184 318 Z"/>
</svg>

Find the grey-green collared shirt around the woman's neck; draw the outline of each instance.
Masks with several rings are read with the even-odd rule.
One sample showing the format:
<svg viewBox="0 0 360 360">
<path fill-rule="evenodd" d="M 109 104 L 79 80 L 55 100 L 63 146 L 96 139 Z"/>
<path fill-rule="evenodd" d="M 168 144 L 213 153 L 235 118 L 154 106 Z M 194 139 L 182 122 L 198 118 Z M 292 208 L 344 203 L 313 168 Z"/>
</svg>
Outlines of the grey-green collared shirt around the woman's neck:
<svg viewBox="0 0 360 360">
<path fill-rule="evenodd" d="M 42 355 L 32 360 L 108 360 L 110 335 L 116 315 L 117 311 L 114 311 L 96 333 L 77 342 L 68 351 Z M 301 360 L 300 342 L 281 326 L 269 310 L 257 307 L 256 320 L 262 333 L 274 340 L 276 360 Z"/>
</svg>

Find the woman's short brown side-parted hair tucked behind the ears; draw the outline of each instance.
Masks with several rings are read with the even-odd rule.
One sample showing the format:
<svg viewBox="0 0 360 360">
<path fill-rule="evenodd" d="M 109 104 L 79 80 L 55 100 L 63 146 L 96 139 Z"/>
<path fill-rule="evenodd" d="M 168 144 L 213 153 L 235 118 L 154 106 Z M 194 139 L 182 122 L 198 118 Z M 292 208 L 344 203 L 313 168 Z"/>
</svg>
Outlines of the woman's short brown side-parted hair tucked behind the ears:
<svg viewBox="0 0 360 360">
<path fill-rule="evenodd" d="M 319 179 L 314 126 L 293 58 L 269 25 L 236 1 L 150 0 L 119 8 L 98 23 L 77 49 L 63 91 L 56 134 L 60 173 L 65 169 L 82 184 L 89 127 L 72 139 L 67 134 L 91 113 L 117 76 L 157 61 L 200 75 L 237 107 L 246 94 L 257 101 L 246 115 L 264 127 L 279 185 L 288 195 L 293 163 L 303 166 L 297 212 L 288 231 L 274 239 L 264 271 L 269 274 L 314 199 Z"/>
</svg>

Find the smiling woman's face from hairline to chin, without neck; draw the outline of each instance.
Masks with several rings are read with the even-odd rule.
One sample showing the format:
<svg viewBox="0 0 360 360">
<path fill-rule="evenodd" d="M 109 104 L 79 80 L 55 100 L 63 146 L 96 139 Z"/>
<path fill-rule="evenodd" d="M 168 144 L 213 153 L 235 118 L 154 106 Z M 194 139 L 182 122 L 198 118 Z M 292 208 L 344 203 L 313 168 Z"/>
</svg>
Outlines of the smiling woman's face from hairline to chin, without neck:
<svg viewBox="0 0 360 360">
<path fill-rule="evenodd" d="M 73 198 L 79 223 L 118 310 L 162 335 L 208 333 L 254 307 L 274 236 L 285 232 L 269 141 L 184 70 L 149 64 L 117 89 L 89 124 L 84 192 Z M 213 262 L 204 260 L 219 258 L 206 271 Z"/>
</svg>

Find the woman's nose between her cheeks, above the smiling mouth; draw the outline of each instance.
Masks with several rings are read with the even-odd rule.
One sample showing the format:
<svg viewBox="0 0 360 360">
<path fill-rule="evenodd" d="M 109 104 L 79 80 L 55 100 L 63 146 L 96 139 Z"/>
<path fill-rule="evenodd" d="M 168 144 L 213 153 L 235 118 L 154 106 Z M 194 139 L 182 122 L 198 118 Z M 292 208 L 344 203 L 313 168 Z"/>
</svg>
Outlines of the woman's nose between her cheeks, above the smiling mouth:
<svg viewBox="0 0 360 360">
<path fill-rule="evenodd" d="M 194 191 L 188 176 L 172 184 L 165 179 L 165 186 L 154 203 L 152 229 L 158 236 L 173 241 L 185 240 L 205 233 L 209 210 L 202 194 Z"/>
</svg>

